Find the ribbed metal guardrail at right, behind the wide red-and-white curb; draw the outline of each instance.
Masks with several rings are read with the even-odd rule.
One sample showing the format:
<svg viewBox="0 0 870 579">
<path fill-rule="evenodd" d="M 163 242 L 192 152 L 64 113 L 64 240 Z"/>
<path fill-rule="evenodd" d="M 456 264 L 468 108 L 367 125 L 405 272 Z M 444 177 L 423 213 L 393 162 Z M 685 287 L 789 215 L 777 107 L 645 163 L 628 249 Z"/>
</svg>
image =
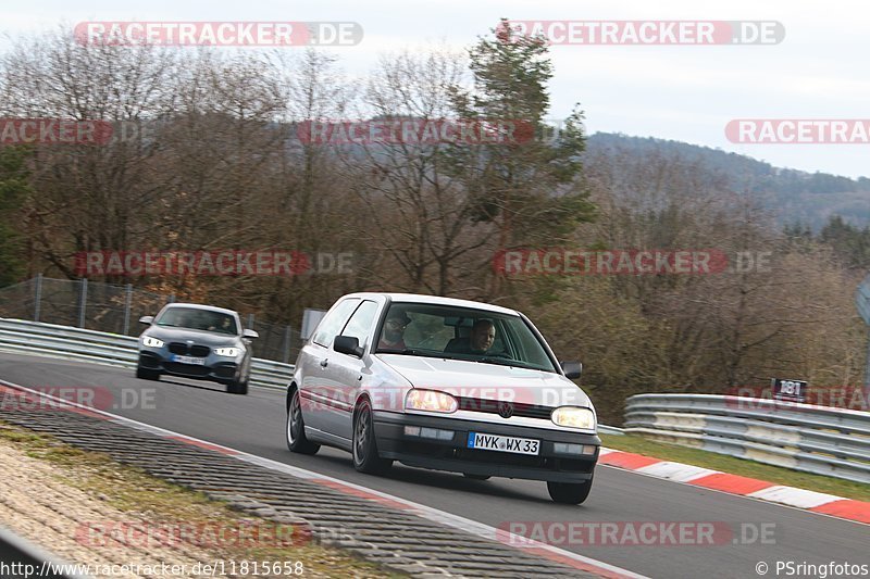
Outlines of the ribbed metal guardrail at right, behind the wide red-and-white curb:
<svg viewBox="0 0 870 579">
<path fill-rule="evenodd" d="M 720 454 L 870 482 L 870 413 L 714 394 L 638 394 L 625 432 Z"/>
</svg>

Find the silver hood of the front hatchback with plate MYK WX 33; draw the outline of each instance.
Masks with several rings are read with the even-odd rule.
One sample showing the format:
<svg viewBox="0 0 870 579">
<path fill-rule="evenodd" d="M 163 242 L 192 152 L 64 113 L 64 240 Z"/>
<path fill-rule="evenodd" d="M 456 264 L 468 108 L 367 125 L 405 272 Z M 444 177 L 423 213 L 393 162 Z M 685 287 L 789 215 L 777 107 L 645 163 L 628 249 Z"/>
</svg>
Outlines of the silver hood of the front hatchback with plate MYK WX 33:
<svg viewBox="0 0 870 579">
<path fill-rule="evenodd" d="M 377 355 L 414 388 L 543 406 L 592 407 L 589 398 L 579 386 L 550 372 L 403 354 Z"/>
</svg>

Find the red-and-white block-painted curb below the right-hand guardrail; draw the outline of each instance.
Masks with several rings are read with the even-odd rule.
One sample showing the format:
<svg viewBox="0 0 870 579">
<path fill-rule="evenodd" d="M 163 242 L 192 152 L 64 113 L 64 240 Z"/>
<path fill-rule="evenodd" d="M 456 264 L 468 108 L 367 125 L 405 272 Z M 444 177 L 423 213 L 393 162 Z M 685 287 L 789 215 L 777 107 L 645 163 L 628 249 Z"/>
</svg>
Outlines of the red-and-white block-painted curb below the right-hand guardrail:
<svg viewBox="0 0 870 579">
<path fill-rule="evenodd" d="M 803 508 L 856 523 L 870 524 L 870 503 L 865 501 L 855 501 L 834 494 L 774 484 L 766 480 L 730 475 L 699 466 L 672 463 L 644 456 L 643 454 L 611 449 L 601 449 L 598 464 L 729 494 Z"/>
</svg>

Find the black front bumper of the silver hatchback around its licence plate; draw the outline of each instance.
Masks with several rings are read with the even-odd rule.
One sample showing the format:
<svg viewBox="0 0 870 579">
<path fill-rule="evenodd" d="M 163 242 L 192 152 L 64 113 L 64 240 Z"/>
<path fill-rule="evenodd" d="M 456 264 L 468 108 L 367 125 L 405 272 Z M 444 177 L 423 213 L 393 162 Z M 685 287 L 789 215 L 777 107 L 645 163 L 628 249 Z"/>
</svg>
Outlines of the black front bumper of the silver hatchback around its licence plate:
<svg viewBox="0 0 870 579">
<path fill-rule="evenodd" d="M 406 426 L 449 430 L 452 436 L 449 440 L 409 436 Z M 589 480 L 601 445 L 601 439 L 595 435 L 391 412 L 374 413 L 374 431 L 378 454 L 408 466 L 555 482 Z M 525 455 L 469 449 L 469 432 L 536 439 L 540 441 L 540 451 L 537 455 Z M 592 445 L 595 452 L 557 453 L 557 442 Z"/>
</svg>

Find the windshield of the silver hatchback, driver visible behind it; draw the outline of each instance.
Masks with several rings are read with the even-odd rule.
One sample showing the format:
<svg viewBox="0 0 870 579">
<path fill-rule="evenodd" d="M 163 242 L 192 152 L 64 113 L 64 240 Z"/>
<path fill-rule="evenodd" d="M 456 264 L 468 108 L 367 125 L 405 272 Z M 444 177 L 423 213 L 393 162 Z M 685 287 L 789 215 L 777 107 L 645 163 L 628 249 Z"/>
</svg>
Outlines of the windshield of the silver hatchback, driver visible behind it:
<svg viewBox="0 0 870 579">
<path fill-rule="evenodd" d="M 378 330 L 378 353 L 465 360 L 557 372 L 532 328 L 515 314 L 450 305 L 394 303 Z"/>
</svg>

